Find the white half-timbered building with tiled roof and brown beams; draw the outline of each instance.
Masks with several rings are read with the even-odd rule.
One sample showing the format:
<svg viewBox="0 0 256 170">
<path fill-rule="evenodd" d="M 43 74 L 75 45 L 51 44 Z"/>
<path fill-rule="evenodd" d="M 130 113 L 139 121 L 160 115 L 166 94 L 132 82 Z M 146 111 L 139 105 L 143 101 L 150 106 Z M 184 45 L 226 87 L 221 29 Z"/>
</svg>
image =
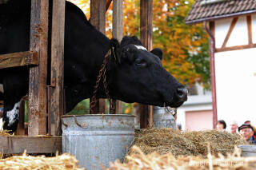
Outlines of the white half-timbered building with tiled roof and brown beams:
<svg viewBox="0 0 256 170">
<path fill-rule="evenodd" d="M 186 24 L 210 37 L 213 122 L 256 122 L 256 1 L 196 0 Z"/>
</svg>

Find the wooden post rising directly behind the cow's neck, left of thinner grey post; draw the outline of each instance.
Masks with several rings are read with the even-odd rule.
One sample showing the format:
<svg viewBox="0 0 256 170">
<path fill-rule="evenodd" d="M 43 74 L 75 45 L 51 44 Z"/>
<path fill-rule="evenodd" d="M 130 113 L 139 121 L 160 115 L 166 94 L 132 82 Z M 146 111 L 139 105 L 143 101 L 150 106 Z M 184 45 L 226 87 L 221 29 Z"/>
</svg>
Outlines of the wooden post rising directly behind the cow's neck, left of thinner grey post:
<svg viewBox="0 0 256 170">
<path fill-rule="evenodd" d="M 106 1 L 90 1 L 90 23 L 105 34 L 106 30 Z M 93 108 L 93 113 L 105 113 L 105 99 L 99 99 Z M 91 107 L 91 106 L 90 106 Z"/>
</svg>

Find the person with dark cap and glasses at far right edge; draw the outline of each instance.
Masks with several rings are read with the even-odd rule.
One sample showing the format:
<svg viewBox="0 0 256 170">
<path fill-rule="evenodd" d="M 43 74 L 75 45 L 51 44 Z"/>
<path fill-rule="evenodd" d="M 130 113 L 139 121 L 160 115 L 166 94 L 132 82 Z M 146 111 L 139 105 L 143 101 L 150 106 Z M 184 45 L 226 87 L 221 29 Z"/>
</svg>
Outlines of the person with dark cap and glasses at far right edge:
<svg viewBox="0 0 256 170">
<path fill-rule="evenodd" d="M 256 136 L 254 136 L 253 127 L 250 124 L 243 124 L 238 128 L 239 134 L 250 144 L 256 144 Z"/>
</svg>

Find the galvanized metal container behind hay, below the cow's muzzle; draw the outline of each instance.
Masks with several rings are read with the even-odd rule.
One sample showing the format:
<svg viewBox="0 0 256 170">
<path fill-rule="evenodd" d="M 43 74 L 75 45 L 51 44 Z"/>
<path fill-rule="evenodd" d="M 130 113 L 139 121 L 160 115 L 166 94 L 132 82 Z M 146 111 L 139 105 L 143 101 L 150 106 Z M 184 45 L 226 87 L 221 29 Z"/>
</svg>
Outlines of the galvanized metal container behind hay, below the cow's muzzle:
<svg viewBox="0 0 256 170">
<path fill-rule="evenodd" d="M 166 108 L 154 106 L 153 115 L 154 127 L 156 128 L 174 128 L 176 129 L 176 123 L 174 117 L 169 113 Z"/>
</svg>

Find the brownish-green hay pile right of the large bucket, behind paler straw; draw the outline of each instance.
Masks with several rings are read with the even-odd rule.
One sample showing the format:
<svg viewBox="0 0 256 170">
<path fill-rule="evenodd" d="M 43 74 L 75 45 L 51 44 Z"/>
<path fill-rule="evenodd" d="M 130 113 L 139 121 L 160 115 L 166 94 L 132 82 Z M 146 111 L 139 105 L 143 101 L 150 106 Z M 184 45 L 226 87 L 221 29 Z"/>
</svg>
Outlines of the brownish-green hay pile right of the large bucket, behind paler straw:
<svg viewBox="0 0 256 170">
<path fill-rule="evenodd" d="M 234 146 L 245 144 L 240 136 L 229 132 L 216 130 L 200 132 L 176 132 L 171 128 L 141 129 L 135 132 L 134 144 L 145 154 L 171 152 L 174 156 L 203 156 L 207 155 L 207 145 L 217 156 L 218 152 L 226 155 L 234 152 Z M 128 155 L 131 151 L 128 152 Z"/>
</svg>

